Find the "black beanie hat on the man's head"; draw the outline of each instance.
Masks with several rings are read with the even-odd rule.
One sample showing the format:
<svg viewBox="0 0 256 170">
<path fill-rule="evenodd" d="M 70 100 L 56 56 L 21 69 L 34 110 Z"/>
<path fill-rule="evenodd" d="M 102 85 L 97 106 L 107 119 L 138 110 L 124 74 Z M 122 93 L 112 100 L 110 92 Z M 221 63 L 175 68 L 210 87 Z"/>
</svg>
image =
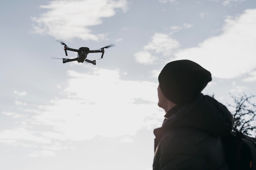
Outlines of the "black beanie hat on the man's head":
<svg viewBox="0 0 256 170">
<path fill-rule="evenodd" d="M 163 95 L 177 105 L 192 102 L 211 82 L 211 73 L 190 60 L 177 60 L 164 66 L 158 77 Z"/>
</svg>

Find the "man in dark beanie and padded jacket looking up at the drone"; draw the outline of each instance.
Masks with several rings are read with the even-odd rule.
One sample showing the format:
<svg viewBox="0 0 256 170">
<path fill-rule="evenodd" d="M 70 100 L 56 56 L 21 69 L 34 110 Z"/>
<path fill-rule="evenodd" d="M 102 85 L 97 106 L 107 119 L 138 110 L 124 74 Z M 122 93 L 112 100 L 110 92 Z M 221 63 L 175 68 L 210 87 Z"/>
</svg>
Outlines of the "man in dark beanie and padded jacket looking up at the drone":
<svg viewBox="0 0 256 170">
<path fill-rule="evenodd" d="M 220 136 L 233 127 L 229 110 L 201 91 L 211 73 L 189 60 L 164 66 L 158 77 L 158 106 L 166 112 L 154 130 L 153 170 L 228 170 Z"/>
</svg>

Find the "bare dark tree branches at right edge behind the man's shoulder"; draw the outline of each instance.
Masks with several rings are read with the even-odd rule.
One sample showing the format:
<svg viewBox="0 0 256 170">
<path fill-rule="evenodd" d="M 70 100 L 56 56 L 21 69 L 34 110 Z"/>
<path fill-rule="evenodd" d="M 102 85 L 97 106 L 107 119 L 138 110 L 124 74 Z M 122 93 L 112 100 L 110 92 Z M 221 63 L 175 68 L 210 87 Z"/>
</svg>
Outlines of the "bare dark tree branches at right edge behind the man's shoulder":
<svg viewBox="0 0 256 170">
<path fill-rule="evenodd" d="M 256 95 L 246 94 L 235 97 L 234 104 L 228 104 L 234 117 L 234 128 L 251 137 L 256 136 L 256 104 L 252 102 Z"/>
</svg>

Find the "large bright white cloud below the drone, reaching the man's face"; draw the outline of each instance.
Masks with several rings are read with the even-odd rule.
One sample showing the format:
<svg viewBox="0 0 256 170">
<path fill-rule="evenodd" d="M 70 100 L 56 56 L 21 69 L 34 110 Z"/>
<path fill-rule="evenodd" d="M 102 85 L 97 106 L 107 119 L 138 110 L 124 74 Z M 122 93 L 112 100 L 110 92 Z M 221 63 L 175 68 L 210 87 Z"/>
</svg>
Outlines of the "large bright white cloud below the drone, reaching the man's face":
<svg viewBox="0 0 256 170">
<path fill-rule="evenodd" d="M 45 111 L 34 117 L 41 124 L 54 126 L 65 138 L 134 135 L 148 127 L 146 117 L 157 113 L 155 83 L 124 81 L 119 79 L 119 71 L 102 68 L 88 74 L 68 74 L 71 78 L 64 88 L 67 98 L 52 100 L 52 106 L 44 106 Z M 136 104 L 136 99 L 146 103 Z"/>
</svg>

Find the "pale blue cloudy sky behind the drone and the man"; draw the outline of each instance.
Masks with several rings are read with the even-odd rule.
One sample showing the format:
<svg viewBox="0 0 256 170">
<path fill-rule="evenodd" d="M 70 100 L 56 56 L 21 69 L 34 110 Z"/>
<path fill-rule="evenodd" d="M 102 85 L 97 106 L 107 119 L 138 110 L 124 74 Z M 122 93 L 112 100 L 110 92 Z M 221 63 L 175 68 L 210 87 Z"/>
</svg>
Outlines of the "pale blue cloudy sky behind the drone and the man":
<svg viewBox="0 0 256 170">
<path fill-rule="evenodd" d="M 4 170 L 151 170 L 174 60 L 210 71 L 202 93 L 222 104 L 256 95 L 255 0 L 9 0 L 0 14 Z M 63 64 L 76 53 L 58 41 L 115 46 Z"/>
</svg>

